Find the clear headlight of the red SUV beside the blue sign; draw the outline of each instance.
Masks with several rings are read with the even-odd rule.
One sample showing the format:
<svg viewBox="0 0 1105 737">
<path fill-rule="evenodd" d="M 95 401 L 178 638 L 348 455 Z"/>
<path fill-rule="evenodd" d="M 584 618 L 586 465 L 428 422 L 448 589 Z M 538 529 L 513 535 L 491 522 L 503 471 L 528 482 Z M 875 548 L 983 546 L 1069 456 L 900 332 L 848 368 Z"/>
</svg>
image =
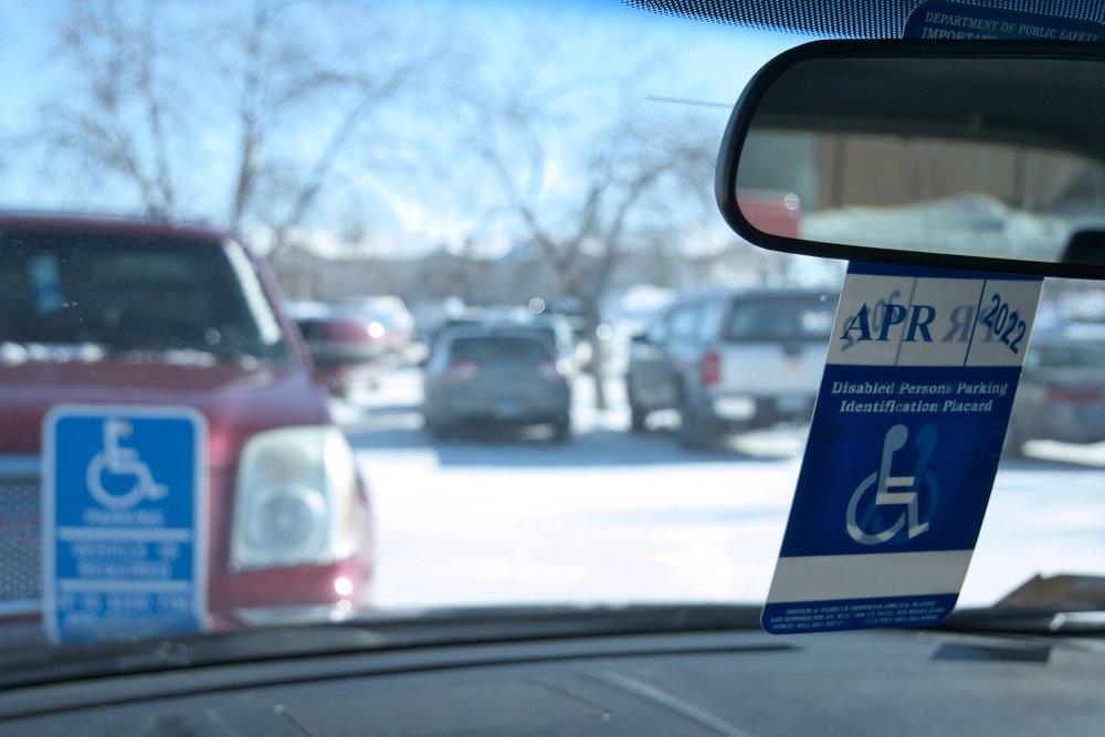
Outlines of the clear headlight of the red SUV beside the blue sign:
<svg viewBox="0 0 1105 737">
<path fill-rule="evenodd" d="M 324 565 L 356 550 L 357 467 L 337 428 L 269 430 L 238 471 L 231 560 L 241 569 Z"/>
</svg>

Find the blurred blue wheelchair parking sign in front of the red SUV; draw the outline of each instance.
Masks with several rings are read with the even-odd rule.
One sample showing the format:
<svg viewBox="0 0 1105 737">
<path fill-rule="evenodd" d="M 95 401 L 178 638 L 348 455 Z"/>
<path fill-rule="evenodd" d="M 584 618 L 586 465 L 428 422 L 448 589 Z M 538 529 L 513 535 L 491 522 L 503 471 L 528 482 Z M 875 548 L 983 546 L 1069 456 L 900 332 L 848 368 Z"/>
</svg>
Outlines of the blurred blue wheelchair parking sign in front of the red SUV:
<svg viewBox="0 0 1105 737">
<path fill-rule="evenodd" d="M 43 423 L 43 599 L 54 642 L 194 632 L 207 612 L 207 422 L 57 407 Z"/>
</svg>

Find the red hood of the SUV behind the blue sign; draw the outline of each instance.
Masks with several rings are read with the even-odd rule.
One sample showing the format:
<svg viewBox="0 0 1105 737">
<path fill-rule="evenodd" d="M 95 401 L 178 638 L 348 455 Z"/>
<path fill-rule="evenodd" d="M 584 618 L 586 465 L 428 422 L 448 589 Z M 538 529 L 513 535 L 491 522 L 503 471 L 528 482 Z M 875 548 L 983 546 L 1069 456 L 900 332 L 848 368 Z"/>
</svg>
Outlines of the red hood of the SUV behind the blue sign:
<svg viewBox="0 0 1105 737">
<path fill-rule="evenodd" d="M 250 369 L 119 360 L 0 365 L 0 454 L 41 451 L 42 420 L 57 404 L 191 407 L 204 414 L 212 468 L 269 428 L 327 424 L 322 389 L 303 367 Z"/>
</svg>

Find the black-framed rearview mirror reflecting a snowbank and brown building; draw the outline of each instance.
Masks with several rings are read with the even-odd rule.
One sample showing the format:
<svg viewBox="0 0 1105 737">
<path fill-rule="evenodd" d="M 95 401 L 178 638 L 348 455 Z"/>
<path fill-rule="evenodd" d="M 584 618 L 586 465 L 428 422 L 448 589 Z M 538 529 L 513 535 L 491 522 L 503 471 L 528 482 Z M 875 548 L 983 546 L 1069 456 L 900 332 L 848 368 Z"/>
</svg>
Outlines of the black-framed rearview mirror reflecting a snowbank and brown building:
<svg viewBox="0 0 1105 737">
<path fill-rule="evenodd" d="M 718 207 L 778 251 L 1102 278 L 1103 93 L 1092 44 L 806 44 L 737 103 Z"/>
</svg>

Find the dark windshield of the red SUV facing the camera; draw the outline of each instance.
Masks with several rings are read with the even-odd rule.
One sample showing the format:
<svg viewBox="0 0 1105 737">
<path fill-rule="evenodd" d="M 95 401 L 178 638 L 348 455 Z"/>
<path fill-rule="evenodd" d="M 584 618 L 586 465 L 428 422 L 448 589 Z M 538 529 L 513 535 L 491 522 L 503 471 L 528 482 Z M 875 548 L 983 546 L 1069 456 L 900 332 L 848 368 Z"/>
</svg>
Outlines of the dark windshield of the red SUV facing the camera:
<svg viewBox="0 0 1105 737">
<path fill-rule="evenodd" d="M 28 232 L 0 243 L 0 343 L 284 362 L 287 346 L 234 243 Z"/>
</svg>

